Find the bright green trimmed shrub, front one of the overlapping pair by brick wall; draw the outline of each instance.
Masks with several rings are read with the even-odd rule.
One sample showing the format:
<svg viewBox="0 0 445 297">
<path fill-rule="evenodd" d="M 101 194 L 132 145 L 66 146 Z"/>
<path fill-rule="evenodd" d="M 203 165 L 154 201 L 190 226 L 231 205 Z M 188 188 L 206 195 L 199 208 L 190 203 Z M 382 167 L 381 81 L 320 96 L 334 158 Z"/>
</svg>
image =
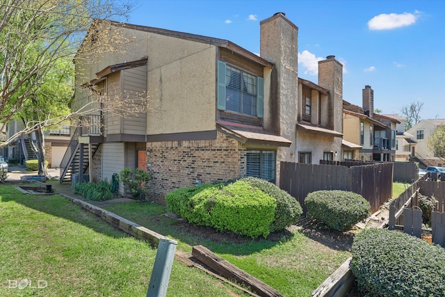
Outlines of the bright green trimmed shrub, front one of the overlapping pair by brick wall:
<svg viewBox="0 0 445 297">
<path fill-rule="evenodd" d="M 276 200 L 248 182 L 202 184 L 165 196 L 167 209 L 189 223 L 266 237 L 275 218 Z"/>
</svg>

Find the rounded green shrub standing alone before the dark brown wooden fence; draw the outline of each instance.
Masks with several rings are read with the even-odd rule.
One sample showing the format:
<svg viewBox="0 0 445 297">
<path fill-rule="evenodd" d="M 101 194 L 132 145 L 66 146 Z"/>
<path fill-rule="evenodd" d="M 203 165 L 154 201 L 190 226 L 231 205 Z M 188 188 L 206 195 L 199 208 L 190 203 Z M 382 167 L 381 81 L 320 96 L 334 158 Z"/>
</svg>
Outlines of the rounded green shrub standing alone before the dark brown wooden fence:
<svg viewBox="0 0 445 297">
<path fill-rule="evenodd" d="M 357 193 L 348 191 L 315 191 L 305 199 L 307 217 L 321 221 L 334 230 L 350 230 L 369 215 L 371 206 Z"/>
</svg>

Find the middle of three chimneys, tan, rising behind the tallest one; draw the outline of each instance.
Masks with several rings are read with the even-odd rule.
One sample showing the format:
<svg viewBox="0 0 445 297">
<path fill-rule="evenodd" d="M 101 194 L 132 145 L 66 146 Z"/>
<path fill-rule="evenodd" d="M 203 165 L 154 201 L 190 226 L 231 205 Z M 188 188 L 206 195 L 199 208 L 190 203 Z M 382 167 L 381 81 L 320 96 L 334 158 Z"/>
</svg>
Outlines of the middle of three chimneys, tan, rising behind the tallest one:
<svg viewBox="0 0 445 297">
<path fill-rule="evenodd" d="M 335 56 L 318 61 L 318 85 L 329 90 L 328 127 L 343 133 L 343 64 Z"/>
</svg>

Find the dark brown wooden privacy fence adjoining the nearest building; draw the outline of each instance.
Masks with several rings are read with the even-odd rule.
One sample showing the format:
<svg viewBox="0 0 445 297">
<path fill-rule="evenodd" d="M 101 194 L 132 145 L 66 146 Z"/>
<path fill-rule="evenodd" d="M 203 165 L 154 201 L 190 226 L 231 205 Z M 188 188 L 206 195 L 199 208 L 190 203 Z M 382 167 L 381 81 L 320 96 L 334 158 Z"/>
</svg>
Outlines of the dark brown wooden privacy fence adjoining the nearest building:
<svg viewBox="0 0 445 297">
<path fill-rule="evenodd" d="M 369 201 L 373 212 L 391 198 L 392 163 L 351 167 L 343 166 L 343 163 L 348 162 L 334 163 L 341 166 L 281 162 L 280 188 L 300 202 L 303 214 L 306 214 L 305 198 L 314 191 L 342 190 L 358 193 Z"/>
</svg>

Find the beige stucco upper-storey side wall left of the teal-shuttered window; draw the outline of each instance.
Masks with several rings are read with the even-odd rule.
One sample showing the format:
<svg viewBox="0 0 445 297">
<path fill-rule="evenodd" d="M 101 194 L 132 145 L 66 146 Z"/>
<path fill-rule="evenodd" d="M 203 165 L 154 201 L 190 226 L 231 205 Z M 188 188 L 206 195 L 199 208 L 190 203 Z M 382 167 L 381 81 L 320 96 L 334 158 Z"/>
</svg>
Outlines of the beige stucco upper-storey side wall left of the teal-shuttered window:
<svg viewBox="0 0 445 297">
<path fill-rule="evenodd" d="M 79 90 L 79 86 L 95 79 L 97 72 L 110 65 L 148 57 L 147 134 L 216 129 L 215 46 L 131 28 L 101 26 L 100 42 L 104 44 L 102 47 L 108 47 L 103 49 L 104 53 L 79 52 L 76 56 L 74 106 L 81 105 L 89 95 L 88 91 Z M 88 48 L 89 44 L 89 40 L 84 40 L 82 47 Z"/>
</svg>

